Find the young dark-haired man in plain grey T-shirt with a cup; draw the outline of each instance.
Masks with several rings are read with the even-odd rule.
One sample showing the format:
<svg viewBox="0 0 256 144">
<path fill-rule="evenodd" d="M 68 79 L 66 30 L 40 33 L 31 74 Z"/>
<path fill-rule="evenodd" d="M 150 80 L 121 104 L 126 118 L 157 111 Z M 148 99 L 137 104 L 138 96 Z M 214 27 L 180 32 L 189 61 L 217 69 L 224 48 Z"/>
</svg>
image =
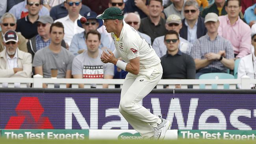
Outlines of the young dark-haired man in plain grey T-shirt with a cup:
<svg viewBox="0 0 256 144">
<path fill-rule="evenodd" d="M 71 66 L 74 55 L 61 46 L 64 37 L 64 26 L 61 22 L 50 27 L 50 45 L 38 50 L 33 59 L 35 74 L 51 78 L 51 69 L 57 69 L 57 78 L 71 78 Z M 70 85 L 67 84 L 67 87 Z M 58 87 L 57 85 L 55 87 Z M 43 88 L 47 85 L 43 83 Z"/>
</svg>

